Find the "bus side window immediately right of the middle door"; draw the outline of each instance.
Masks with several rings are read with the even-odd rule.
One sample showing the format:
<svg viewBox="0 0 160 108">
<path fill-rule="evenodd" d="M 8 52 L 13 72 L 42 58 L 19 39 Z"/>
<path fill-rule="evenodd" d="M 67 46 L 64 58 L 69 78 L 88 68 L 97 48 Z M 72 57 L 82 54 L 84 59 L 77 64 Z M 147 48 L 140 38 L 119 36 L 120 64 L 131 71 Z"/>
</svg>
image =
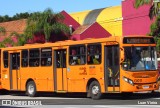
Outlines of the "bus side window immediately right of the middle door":
<svg viewBox="0 0 160 108">
<path fill-rule="evenodd" d="M 76 45 L 69 48 L 69 64 L 83 65 L 86 63 L 85 45 Z"/>
</svg>

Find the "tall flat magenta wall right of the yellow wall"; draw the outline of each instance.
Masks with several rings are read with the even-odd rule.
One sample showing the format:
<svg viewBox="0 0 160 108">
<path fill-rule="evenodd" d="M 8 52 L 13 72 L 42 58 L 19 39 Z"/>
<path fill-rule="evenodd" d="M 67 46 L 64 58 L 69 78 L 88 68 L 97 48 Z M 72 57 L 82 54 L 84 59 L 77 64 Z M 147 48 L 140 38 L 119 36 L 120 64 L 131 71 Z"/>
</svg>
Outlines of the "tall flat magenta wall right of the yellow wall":
<svg viewBox="0 0 160 108">
<path fill-rule="evenodd" d="M 154 22 L 149 18 L 150 5 L 134 8 L 135 0 L 122 1 L 122 30 L 123 35 L 146 35 L 150 32 L 150 25 Z"/>
</svg>

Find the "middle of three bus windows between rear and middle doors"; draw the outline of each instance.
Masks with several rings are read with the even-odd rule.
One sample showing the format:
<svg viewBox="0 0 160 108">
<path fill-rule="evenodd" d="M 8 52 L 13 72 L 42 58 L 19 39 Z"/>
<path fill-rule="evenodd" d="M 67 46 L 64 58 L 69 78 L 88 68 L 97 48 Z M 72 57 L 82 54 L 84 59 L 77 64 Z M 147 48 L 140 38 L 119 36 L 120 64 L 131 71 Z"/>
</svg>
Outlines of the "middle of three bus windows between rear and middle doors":
<svg viewBox="0 0 160 108">
<path fill-rule="evenodd" d="M 39 49 L 30 49 L 29 50 L 29 66 L 38 67 L 40 62 L 40 53 Z"/>
</svg>

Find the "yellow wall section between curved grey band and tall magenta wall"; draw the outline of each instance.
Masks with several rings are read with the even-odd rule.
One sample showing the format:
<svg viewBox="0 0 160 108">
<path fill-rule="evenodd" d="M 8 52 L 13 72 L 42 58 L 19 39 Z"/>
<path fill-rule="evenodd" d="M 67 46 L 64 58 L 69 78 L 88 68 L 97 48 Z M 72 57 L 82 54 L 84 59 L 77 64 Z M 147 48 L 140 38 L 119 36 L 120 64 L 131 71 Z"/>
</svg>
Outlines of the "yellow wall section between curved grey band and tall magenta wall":
<svg viewBox="0 0 160 108">
<path fill-rule="evenodd" d="M 98 16 L 97 22 L 113 36 L 122 35 L 122 8 L 114 6 L 104 9 Z"/>
</svg>

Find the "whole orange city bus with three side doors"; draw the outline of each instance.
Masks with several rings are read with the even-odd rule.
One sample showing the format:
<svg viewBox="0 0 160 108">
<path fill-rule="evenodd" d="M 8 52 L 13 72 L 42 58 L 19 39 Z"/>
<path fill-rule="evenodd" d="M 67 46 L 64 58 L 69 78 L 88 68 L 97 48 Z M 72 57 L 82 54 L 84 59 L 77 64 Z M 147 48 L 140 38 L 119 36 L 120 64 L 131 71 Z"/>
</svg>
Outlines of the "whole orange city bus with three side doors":
<svg viewBox="0 0 160 108">
<path fill-rule="evenodd" d="M 125 36 L 33 44 L 1 49 L 6 90 L 104 93 L 158 89 L 156 44 L 150 36 Z"/>
</svg>

